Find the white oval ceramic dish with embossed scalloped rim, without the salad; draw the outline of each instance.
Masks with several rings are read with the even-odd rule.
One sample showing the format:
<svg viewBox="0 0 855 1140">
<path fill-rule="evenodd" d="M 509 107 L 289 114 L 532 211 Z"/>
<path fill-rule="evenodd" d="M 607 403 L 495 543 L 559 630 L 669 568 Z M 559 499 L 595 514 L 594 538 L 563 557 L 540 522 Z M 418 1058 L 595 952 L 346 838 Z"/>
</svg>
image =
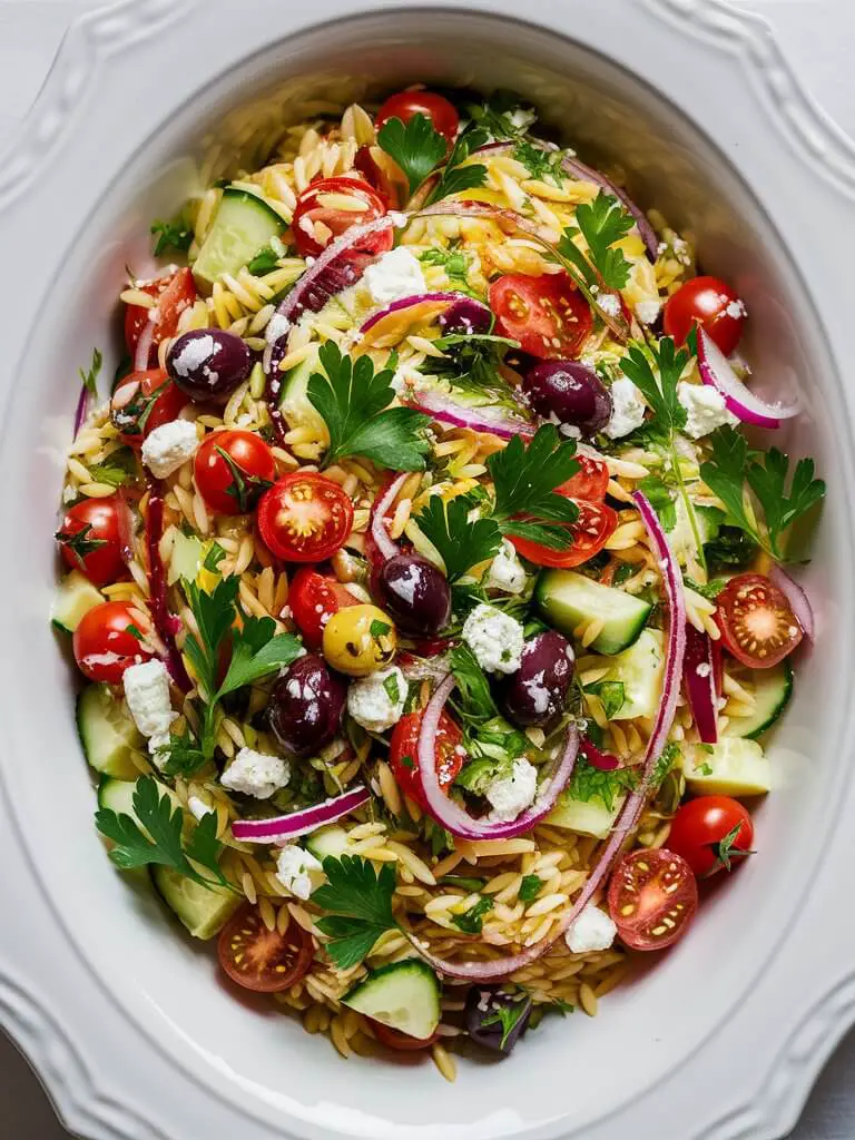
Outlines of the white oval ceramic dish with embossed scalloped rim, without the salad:
<svg viewBox="0 0 855 1140">
<path fill-rule="evenodd" d="M 763 25 L 715 0 L 358 7 L 131 0 L 88 17 L 0 163 L 0 1016 L 85 1137 L 779 1135 L 855 1016 L 855 483 L 838 370 L 855 163 Z M 181 201 L 192 155 L 222 173 L 283 116 L 415 80 L 519 89 L 583 154 L 618 156 L 642 204 L 692 228 L 703 264 L 746 298 L 759 383 L 800 391 L 787 445 L 819 457 L 831 491 L 805 572 L 819 637 L 774 738 L 760 854 L 602 1016 L 549 1019 L 500 1069 L 464 1064 L 455 1086 L 429 1065 L 345 1064 L 236 1001 L 113 870 L 47 624 L 76 368 L 116 339 L 124 266 L 145 264 L 148 225 Z"/>
</svg>

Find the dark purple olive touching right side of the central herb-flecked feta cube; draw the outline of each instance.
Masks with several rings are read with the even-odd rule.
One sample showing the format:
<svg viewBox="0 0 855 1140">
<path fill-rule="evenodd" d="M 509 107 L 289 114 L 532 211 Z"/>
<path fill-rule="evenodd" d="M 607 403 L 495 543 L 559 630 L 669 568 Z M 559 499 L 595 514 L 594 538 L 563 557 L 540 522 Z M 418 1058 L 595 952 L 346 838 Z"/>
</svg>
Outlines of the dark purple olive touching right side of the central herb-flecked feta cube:
<svg viewBox="0 0 855 1140">
<path fill-rule="evenodd" d="M 546 724 L 561 712 L 573 677 L 573 649 L 549 629 L 522 648 L 520 668 L 504 683 L 502 703 L 516 724 Z"/>
</svg>

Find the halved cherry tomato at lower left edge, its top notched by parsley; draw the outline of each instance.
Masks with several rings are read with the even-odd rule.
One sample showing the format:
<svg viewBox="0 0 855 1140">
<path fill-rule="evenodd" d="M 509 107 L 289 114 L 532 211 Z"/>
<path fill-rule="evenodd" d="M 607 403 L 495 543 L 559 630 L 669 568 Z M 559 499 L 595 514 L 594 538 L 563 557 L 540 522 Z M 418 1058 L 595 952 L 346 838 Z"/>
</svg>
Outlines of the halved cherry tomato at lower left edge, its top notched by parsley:
<svg viewBox="0 0 855 1140">
<path fill-rule="evenodd" d="M 292 919 L 285 934 L 268 930 L 255 906 L 242 906 L 220 931 L 217 954 L 244 990 L 277 993 L 306 977 L 315 956 L 311 935 Z"/>
</svg>

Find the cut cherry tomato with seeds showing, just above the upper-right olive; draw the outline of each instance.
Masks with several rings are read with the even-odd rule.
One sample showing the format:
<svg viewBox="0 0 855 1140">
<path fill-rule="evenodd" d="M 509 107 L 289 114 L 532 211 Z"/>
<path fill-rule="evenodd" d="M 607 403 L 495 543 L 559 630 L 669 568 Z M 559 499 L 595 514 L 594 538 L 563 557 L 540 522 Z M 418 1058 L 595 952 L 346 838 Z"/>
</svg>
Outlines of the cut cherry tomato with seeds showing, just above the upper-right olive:
<svg viewBox="0 0 855 1140">
<path fill-rule="evenodd" d="M 588 302 L 567 274 L 505 274 L 490 285 L 496 332 L 540 359 L 575 359 L 594 326 Z"/>
</svg>

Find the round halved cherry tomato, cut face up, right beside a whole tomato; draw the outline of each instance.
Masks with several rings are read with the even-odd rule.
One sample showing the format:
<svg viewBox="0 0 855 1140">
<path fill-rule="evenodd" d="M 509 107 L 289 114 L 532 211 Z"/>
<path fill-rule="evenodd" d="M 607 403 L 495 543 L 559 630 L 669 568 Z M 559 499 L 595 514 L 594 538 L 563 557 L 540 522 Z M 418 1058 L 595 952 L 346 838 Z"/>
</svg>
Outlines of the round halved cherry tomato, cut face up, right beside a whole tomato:
<svg viewBox="0 0 855 1140">
<path fill-rule="evenodd" d="M 332 479 L 295 471 L 264 491 L 259 530 L 268 549 L 286 562 L 323 562 L 353 526 L 353 504 Z"/>
</svg>

